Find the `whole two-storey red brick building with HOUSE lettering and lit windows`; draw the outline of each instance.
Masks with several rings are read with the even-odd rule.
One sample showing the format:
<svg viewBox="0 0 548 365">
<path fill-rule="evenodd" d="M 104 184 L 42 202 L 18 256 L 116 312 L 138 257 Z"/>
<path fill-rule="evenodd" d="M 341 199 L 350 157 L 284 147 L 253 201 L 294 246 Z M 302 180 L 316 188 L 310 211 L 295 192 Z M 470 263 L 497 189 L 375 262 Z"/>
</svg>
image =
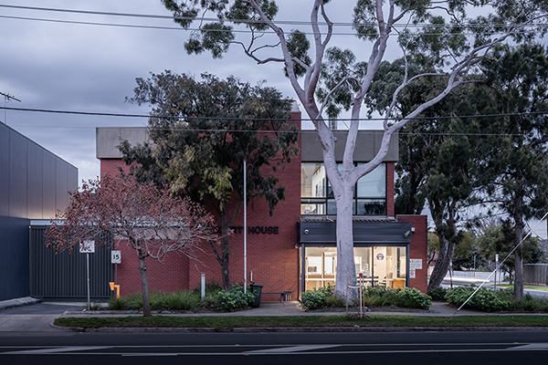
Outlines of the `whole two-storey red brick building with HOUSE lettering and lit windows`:
<svg viewBox="0 0 548 365">
<path fill-rule="evenodd" d="M 300 120 L 300 111 L 292 113 Z M 344 141 L 345 131 L 335 131 Z M 354 160 L 370 161 L 380 147 L 382 131 L 360 130 Z M 147 140 L 144 128 L 98 128 L 97 157 L 101 175 L 115 174 L 121 167 L 129 171 L 116 149 L 120 141 L 132 144 Z M 342 161 L 342 148 L 336 156 Z M 341 151 L 339 151 L 341 150 Z M 274 213 L 263 200 L 248 205 L 247 227 L 243 209 L 233 224 L 230 238 L 231 282 L 253 281 L 263 292 L 291 291 L 292 298 L 303 290 L 334 283 L 336 268 L 336 206 L 322 165 L 321 146 L 313 130 L 300 133 L 300 156 L 277 172 L 279 183 L 287 187 L 286 200 Z M 427 217 L 394 214 L 394 167 L 397 162 L 397 136 L 393 138 L 385 163 L 364 176 L 354 198 L 354 255 L 356 272 L 367 283 L 388 287 L 416 287 L 427 290 Z M 244 273 L 244 232 L 247 234 L 247 272 Z M 141 291 L 137 258 L 125 246 L 117 267 L 121 294 Z M 125 251 L 124 251 L 125 250 Z M 174 291 L 199 287 L 201 275 L 208 282 L 220 283 L 220 266 L 209 247 L 198 260 L 171 255 L 163 262 L 147 263 L 150 289 Z M 262 300 L 279 300 L 263 295 Z"/>
</svg>

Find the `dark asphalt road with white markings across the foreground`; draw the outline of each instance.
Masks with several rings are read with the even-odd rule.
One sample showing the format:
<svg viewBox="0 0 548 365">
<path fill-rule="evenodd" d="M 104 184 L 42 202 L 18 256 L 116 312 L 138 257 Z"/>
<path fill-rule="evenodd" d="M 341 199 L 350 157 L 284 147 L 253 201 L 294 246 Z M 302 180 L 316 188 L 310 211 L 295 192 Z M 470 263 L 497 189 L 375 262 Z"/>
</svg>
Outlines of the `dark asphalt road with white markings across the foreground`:
<svg viewBox="0 0 548 365">
<path fill-rule="evenodd" d="M 11 364 L 543 364 L 548 330 L 0 334 Z"/>
</svg>

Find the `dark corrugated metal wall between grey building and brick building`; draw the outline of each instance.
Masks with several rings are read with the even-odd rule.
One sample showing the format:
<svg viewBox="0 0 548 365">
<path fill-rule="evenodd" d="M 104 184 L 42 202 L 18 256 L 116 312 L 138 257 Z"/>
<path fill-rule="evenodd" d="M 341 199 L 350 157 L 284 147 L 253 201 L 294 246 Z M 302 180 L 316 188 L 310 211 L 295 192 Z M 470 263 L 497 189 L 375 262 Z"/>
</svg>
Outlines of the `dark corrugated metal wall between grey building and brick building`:
<svg viewBox="0 0 548 365">
<path fill-rule="evenodd" d="M 44 243 L 46 229 L 30 229 L 30 295 L 87 297 L 86 254 L 80 254 L 77 248 L 72 255 L 68 251 L 56 255 Z M 111 247 L 98 247 L 95 254 L 90 254 L 90 297 L 111 297 L 111 280 Z"/>
</svg>

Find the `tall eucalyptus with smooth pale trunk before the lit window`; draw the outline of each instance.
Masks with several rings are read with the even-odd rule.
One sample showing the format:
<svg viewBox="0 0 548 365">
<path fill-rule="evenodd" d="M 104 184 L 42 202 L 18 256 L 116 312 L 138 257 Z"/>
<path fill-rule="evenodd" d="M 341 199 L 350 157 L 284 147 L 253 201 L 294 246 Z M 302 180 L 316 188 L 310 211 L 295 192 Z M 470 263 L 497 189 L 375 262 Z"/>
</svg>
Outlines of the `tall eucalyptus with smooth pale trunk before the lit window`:
<svg viewBox="0 0 548 365">
<path fill-rule="evenodd" d="M 392 135 L 409 120 L 445 98 L 469 80 L 463 78 L 490 49 L 513 37 L 532 37 L 545 32 L 548 4 L 545 0 L 409 1 L 357 0 L 354 5 L 341 1 L 309 0 L 306 31 L 287 32 L 287 22 L 276 15 L 279 6 L 295 2 L 274 0 L 162 0 L 185 29 L 194 28 L 184 47 L 188 53 L 211 52 L 222 57 L 230 46 L 237 46 L 251 61 L 261 65 L 279 63 L 289 78 L 297 99 L 312 120 L 323 150 L 323 162 L 337 204 L 337 277 L 335 292 L 344 296 L 347 279 L 355 283 L 353 262 L 352 199 L 358 179 L 383 162 Z M 486 7 L 490 14 L 470 18 Z M 330 13 L 331 12 L 331 13 Z M 336 46 L 338 23 L 332 14 L 346 12 L 352 17 L 357 40 L 369 47 L 368 56 L 357 60 L 353 52 L 328 59 Z M 208 15 L 211 15 L 208 17 Z M 240 32 L 245 30 L 245 32 Z M 339 38 L 340 39 L 340 38 Z M 363 51 L 364 44 L 354 42 Z M 341 47 L 339 47 L 341 48 Z M 415 55 L 434 71 L 406 77 L 395 89 L 384 114 L 385 130 L 381 148 L 371 162 L 355 166 L 353 151 L 364 99 L 389 49 Z M 341 52 L 339 52 L 341 53 Z M 331 64 L 331 66 L 329 65 Z M 407 68 L 407 63 L 404 66 Z M 326 78 L 322 78 L 326 77 Z M 397 94 L 416 78 L 443 76 L 446 86 L 425 103 L 393 119 Z M 323 91 L 321 91 L 323 89 Z M 335 138 L 324 114 L 350 111 L 342 170 L 335 161 Z M 355 294 L 355 293 L 353 293 Z"/>
</svg>

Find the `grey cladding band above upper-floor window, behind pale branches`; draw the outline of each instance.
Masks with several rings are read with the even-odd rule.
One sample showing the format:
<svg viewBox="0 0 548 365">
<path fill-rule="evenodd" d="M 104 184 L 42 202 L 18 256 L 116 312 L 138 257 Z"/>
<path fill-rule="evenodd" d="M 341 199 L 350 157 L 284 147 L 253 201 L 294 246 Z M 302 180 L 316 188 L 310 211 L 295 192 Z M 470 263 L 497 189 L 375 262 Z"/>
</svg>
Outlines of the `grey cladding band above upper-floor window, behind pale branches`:
<svg viewBox="0 0 548 365">
<path fill-rule="evenodd" d="M 333 131 L 337 138 L 335 142 L 335 159 L 342 162 L 344 144 L 346 141 L 346 130 Z M 379 151 L 383 141 L 383 130 L 359 130 L 354 149 L 354 162 L 369 162 L 373 160 L 374 154 Z M 323 154 L 321 144 L 315 130 L 303 130 L 301 132 L 301 161 L 321 162 Z M 398 135 L 395 133 L 390 140 L 385 162 L 397 162 L 398 160 Z"/>
</svg>

